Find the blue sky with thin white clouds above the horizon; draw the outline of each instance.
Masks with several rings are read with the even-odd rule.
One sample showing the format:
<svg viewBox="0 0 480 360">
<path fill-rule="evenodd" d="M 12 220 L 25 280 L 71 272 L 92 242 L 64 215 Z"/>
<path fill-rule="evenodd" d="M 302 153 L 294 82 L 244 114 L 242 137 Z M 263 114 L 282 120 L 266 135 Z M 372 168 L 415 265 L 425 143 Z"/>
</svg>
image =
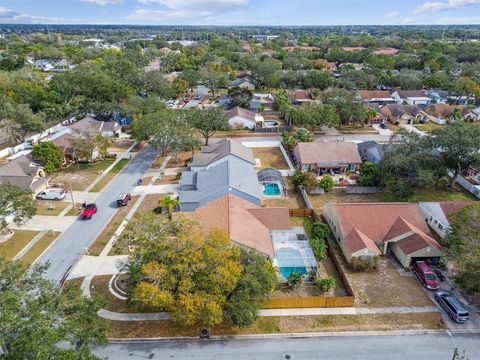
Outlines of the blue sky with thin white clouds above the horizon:
<svg viewBox="0 0 480 360">
<path fill-rule="evenodd" d="M 0 0 L 0 24 L 480 24 L 480 0 Z"/>
</svg>

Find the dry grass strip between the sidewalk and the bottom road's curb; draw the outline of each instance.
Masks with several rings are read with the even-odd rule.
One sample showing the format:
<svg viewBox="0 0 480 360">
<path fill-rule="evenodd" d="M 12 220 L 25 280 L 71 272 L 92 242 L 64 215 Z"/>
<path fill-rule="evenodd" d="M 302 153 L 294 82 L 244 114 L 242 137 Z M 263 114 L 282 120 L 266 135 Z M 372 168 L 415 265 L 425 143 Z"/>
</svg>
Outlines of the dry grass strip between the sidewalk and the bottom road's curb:
<svg viewBox="0 0 480 360">
<path fill-rule="evenodd" d="M 198 336 L 201 326 L 182 327 L 169 320 L 109 321 L 110 338 Z M 332 331 L 440 330 L 440 313 L 261 317 L 252 326 L 214 326 L 212 335 Z"/>
</svg>

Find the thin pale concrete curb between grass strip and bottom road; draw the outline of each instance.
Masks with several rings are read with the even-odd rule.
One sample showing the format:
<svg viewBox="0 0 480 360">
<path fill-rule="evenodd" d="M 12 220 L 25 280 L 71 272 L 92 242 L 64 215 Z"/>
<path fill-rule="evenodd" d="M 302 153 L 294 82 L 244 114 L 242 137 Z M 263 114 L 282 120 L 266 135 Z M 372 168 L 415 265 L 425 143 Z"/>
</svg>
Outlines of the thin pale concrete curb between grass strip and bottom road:
<svg viewBox="0 0 480 360">
<path fill-rule="evenodd" d="M 472 330 L 449 330 L 452 334 L 480 334 L 480 329 Z M 295 339 L 295 338 L 321 338 L 334 336 L 396 336 L 396 335 L 448 335 L 447 330 L 393 330 L 393 331 L 339 331 L 339 332 L 316 332 L 316 333 L 281 333 L 281 334 L 250 334 L 250 335 L 219 335 L 209 339 L 199 339 L 195 336 L 178 337 L 153 337 L 153 338 L 109 338 L 111 343 L 122 342 L 153 342 L 153 341 L 225 341 L 225 340 L 258 340 L 258 339 Z"/>
</svg>

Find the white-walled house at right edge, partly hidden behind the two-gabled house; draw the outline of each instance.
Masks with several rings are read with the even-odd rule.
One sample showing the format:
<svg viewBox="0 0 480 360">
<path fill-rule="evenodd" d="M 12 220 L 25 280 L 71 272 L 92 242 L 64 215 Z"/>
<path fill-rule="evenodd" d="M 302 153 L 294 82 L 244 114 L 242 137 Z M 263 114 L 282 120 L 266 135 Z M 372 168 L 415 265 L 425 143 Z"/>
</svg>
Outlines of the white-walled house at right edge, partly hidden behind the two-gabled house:
<svg viewBox="0 0 480 360">
<path fill-rule="evenodd" d="M 443 238 L 450 229 L 448 215 L 475 203 L 475 201 L 421 202 L 418 206 L 430 228 Z"/>
</svg>

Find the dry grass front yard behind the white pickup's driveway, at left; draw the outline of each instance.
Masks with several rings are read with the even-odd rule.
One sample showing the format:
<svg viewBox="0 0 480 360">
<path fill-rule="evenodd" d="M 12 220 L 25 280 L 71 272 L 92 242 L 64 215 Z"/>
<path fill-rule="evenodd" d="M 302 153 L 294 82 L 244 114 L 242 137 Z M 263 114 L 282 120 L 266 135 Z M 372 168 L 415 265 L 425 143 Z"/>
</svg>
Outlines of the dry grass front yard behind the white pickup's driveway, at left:
<svg viewBox="0 0 480 360">
<path fill-rule="evenodd" d="M 113 160 L 100 160 L 94 164 L 72 164 L 53 174 L 50 182 L 64 184 L 69 190 L 83 191 Z"/>
</svg>

